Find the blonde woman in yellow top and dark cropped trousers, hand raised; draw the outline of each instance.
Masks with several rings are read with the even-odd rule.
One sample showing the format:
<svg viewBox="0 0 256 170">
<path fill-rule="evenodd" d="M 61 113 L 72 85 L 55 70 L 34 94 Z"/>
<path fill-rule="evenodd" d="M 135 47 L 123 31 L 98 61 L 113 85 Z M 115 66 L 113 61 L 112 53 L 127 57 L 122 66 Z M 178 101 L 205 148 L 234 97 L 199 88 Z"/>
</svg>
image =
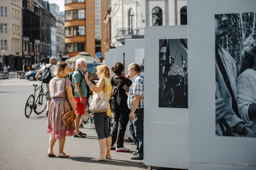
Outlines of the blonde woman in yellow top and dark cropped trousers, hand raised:
<svg viewBox="0 0 256 170">
<path fill-rule="evenodd" d="M 95 92 L 101 93 L 102 90 L 106 88 L 107 97 L 109 100 L 112 87 L 109 80 L 110 72 L 109 72 L 108 66 L 103 64 L 103 65 L 96 66 L 95 68 L 97 69 L 96 74 L 99 78 L 99 82 L 97 86 L 92 84 L 92 82 L 89 80 L 88 72 L 84 74 L 85 81 L 94 93 Z M 105 82 L 106 82 L 106 87 L 105 87 Z M 107 112 L 94 113 L 94 125 L 95 125 L 96 132 L 98 134 L 98 139 L 100 144 L 100 156 L 91 159 L 92 161 L 106 161 L 106 159 L 111 159 L 110 148 L 111 148 L 112 138 L 108 129 L 108 117 L 110 116 L 111 116 L 110 106 Z"/>
</svg>

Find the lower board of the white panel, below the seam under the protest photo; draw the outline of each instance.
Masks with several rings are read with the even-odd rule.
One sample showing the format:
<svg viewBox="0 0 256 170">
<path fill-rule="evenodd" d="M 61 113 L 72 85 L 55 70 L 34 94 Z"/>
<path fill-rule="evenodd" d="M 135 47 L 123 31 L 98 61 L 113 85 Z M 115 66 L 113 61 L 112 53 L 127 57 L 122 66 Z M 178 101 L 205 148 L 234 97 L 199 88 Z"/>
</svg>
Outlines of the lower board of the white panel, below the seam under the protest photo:
<svg viewBox="0 0 256 170">
<path fill-rule="evenodd" d="M 144 164 L 180 168 L 179 162 L 180 166 L 188 162 L 188 126 L 144 121 Z"/>
</svg>

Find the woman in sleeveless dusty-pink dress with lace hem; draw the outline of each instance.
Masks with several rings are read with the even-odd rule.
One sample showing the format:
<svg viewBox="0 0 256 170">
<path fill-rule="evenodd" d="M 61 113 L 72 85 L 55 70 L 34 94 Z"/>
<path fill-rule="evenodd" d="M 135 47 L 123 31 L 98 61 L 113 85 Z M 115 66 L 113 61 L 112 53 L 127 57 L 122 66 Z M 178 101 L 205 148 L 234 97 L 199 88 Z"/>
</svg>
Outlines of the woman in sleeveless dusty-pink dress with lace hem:
<svg viewBox="0 0 256 170">
<path fill-rule="evenodd" d="M 63 111 L 63 97 L 65 95 L 65 112 L 75 110 L 75 101 L 72 94 L 71 81 L 66 80 L 64 77 L 68 75 L 68 66 L 66 62 L 58 62 L 54 70 L 56 76 L 49 82 L 49 90 L 52 98 L 52 102 L 49 107 L 48 122 L 47 122 L 47 133 L 51 133 L 49 139 L 49 150 L 48 156 L 53 157 L 53 146 L 58 139 L 59 152 L 58 157 L 70 157 L 70 155 L 64 153 L 63 148 L 66 140 L 66 136 L 74 136 L 75 134 L 75 123 L 73 122 L 70 126 L 65 126 L 62 122 L 62 111 Z M 64 94 L 64 84 L 66 80 L 66 93 Z"/>
</svg>

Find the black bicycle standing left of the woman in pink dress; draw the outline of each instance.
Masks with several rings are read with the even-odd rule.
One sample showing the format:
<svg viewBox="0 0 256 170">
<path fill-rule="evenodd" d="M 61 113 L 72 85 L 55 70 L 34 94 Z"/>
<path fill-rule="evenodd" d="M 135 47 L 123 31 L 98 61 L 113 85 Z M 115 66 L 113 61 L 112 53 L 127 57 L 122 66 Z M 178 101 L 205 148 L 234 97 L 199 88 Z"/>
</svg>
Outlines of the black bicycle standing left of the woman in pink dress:
<svg viewBox="0 0 256 170">
<path fill-rule="evenodd" d="M 34 92 L 28 97 L 28 100 L 26 102 L 25 107 L 25 116 L 28 118 L 31 114 L 31 112 L 34 110 L 36 114 L 42 113 L 46 108 L 46 96 L 43 89 L 43 82 L 41 83 L 41 86 L 37 87 L 37 84 L 33 84 L 35 87 Z M 36 91 L 39 89 L 39 92 L 36 95 Z"/>
</svg>

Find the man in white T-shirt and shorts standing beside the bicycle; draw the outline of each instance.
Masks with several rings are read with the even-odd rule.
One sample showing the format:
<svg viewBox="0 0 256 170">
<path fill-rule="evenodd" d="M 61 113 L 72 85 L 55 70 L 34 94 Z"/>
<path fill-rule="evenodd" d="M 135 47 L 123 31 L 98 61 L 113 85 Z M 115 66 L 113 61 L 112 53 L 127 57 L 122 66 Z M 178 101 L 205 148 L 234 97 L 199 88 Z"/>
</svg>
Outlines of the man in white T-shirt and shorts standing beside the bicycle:
<svg viewBox="0 0 256 170">
<path fill-rule="evenodd" d="M 37 73 L 36 73 L 36 76 L 35 78 L 38 80 L 38 76 L 41 72 L 44 72 L 45 70 L 45 67 L 50 67 L 51 64 L 53 65 L 52 67 L 50 67 L 50 70 L 51 70 L 51 76 L 54 77 L 54 74 L 53 74 L 53 71 L 56 67 L 56 59 L 54 57 L 51 57 L 50 60 L 49 60 L 49 64 L 46 64 L 46 66 L 42 67 Z M 50 96 L 50 91 L 49 91 L 49 83 L 46 83 L 46 88 L 45 88 L 45 96 L 46 96 L 46 100 L 47 100 L 47 104 L 46 104 L 46 116 L 48 117 L 48 112 L 49 112 L 49 106 L 50 106 L 50 103 L 52 101 L 51 99 L 51 96 Z"/>
</svg>

